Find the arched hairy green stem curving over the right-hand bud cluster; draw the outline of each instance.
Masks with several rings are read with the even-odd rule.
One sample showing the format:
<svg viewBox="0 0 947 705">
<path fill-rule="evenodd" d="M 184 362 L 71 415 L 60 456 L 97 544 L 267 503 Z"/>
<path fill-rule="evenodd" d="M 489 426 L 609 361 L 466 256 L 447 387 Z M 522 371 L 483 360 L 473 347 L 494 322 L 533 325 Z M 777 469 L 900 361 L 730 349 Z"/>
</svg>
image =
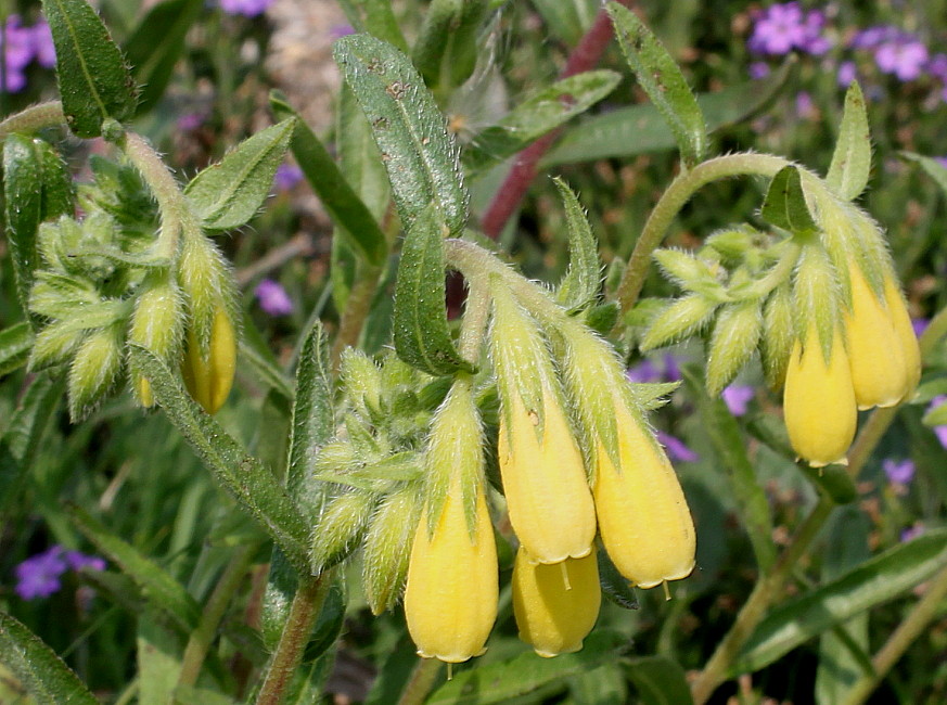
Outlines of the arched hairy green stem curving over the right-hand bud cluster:
<svg viewBox="0 0 947 705">
<path fill-rule="evenodd" d="M 641 236 L 635 243 L 631 259 L 618 284 L 618 304 L 622 312 L 635 306 L 644 278 L 651 266 L 651 254 L 661 244 L 670 223 L 683 205 L 706 184 L 734 176 L 756 175 L 772 177 L 791 164 L 780 156 L 769 154 L 729 154 L 699 164 L 690 171 L 681 172 L 667 188 L 648 217 Z"/>
</svg>

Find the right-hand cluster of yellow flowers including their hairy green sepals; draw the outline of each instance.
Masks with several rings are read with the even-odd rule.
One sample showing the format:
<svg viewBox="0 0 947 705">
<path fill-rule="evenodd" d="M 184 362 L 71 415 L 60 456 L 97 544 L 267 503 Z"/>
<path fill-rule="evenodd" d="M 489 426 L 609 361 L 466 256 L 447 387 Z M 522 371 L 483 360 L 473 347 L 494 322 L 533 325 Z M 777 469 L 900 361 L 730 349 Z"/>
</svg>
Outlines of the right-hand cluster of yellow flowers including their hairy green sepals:
<svg viewBox="0 0 947 705">
<path fill-rule="evenodd" d="M 818 242 L 799 258 L 797 325 L 783 392 L 790 440 L 812 466 L 846 462 L 857 410 L 907 399 L 921 355 L 876 226 L 848 204 L 820 202 Z M 807 310 L 808 309 L 808 310 Z"/>
</svg>

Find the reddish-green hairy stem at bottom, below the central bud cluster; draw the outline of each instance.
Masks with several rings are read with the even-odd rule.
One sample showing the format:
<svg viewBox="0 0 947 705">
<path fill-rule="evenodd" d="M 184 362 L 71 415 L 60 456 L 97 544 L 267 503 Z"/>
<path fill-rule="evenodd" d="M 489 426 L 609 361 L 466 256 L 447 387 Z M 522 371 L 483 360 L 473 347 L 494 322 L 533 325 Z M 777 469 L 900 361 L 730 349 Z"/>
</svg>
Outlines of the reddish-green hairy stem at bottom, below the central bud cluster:
<svg viewBox="0 0 947 705">
<path fill-rule="evenodd" d="M 279 705 L 285 694 L 286 687 L 293 678 L 293 671 L 303 658 L 303 651 L 309 641 L 312 625 L 319 616 L 330 580 L 328 574 L 318 577 L 302 577 L 299 589 L 290 605 L 290 615 L 283 626 L 280 643 L 273 653 L 266 679 L 256 698 L 256 705 Z"/>
</svg>

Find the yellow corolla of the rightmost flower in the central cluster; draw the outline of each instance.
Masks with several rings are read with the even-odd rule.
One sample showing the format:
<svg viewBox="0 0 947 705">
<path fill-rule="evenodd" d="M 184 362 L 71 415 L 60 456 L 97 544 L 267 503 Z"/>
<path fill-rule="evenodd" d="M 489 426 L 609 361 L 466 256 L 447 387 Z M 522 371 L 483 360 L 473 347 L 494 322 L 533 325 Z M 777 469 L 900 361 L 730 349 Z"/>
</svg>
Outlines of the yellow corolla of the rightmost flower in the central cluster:
<svg viewBox="0 0 947 705">
<path fill-rule="evenodd" d="M 594 499 L 602 543 L 618 572 L 639 588 L 686 578 L 694 569 L 694 523 L 677 475 L 657 441 L 616 395 L 618 460 L 598 451 Z"/>
</svg>

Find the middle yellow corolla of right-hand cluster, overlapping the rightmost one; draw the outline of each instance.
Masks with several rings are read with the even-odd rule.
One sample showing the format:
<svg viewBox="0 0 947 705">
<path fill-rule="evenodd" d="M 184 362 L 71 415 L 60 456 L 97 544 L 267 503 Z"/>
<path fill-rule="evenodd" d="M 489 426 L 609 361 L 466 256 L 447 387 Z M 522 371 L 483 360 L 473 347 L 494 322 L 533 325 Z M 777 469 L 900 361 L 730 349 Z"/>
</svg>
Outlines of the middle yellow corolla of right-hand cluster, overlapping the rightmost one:
<svg viewBox="0 0 947 705">
<path fill-rule="evenodd" d="M 905 354 L 890 309 L 871 291 L 858 265 L 849 266 L 852 312 L 845 316 L 848 366 L 859 409 L 893 407 L 905 396 Z"/>
</svg>

